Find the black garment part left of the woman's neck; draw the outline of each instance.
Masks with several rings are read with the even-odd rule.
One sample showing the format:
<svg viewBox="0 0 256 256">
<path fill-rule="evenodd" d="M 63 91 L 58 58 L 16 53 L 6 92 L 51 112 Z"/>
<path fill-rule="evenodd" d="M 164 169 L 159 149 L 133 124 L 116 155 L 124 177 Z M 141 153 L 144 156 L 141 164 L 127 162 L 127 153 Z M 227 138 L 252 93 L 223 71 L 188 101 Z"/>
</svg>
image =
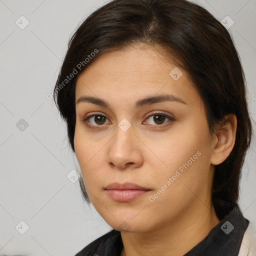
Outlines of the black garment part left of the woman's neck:
<svg viewBox="0 0 256 256">
<path fill-rule="evenodd" d="M 75 254 L 75 256 L 98 256 L 98 255 L 118 255 L 122 248 L 120 232 L 112 229 L 104 235 L 98 237 L 83 249 Z M 116 254 L 117 253 L 117 254 Z M 118 255 L 119 256 L 119 255 Z"/>
</svg>

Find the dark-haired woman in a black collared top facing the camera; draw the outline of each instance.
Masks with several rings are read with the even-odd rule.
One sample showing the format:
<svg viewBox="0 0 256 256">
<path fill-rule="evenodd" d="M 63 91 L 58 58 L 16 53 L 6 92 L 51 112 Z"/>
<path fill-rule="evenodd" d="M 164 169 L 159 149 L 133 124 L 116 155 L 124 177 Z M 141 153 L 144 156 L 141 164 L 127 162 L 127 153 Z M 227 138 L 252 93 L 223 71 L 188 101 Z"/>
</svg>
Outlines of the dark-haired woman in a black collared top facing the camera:
<svg viewBox="0 0 256 256">
<path fill-rule="evenodd" d="M 54 91 L 84 198 L 113 228 L 76 256 L 253 255 L 237 205 L 244 75 L 208 11 L 105 4 L 71 37 Z"/>
</svg>

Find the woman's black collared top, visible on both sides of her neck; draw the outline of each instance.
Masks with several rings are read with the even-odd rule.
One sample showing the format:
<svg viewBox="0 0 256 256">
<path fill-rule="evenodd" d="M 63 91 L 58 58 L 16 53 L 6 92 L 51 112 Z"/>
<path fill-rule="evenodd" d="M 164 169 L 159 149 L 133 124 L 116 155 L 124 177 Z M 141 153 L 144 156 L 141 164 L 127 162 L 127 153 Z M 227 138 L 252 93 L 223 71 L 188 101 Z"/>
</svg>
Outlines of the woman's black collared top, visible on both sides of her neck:
<svg viewBox="0 0 256 256">
<path fill-rule="evenodd" d="M 243 217 L 236 203 L 226 204 L 229 212 L 208 235 L 184 256 L 237 256 L 249 220 Z M 75 256 L 120 256 L 123 244 L 115 229 L 89 243 Z"/>
</svg>

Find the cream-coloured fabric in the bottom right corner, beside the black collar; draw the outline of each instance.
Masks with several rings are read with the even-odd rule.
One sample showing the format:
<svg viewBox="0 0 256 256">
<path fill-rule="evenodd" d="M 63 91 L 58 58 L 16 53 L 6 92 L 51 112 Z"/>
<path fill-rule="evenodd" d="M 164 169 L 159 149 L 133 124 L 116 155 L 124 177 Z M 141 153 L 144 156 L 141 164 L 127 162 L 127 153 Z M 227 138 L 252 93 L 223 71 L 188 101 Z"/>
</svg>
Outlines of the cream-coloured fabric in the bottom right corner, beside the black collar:
<svg viewBox="0 0 256 256">
<path fill-rule="evenodd" d="M 256 226 L 249 222 L 245 230 L 238 256 L 256 255 Z"/>
</svg>

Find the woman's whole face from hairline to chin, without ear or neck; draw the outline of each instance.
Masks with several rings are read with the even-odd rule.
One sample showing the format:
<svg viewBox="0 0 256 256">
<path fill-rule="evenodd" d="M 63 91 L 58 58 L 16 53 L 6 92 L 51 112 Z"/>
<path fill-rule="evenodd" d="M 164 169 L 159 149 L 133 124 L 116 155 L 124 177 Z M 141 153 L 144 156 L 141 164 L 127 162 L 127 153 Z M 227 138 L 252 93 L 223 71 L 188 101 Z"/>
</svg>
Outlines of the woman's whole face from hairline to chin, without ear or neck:
<svg viewBox="0 0 256 256">
<path fill-rule="evenodd" d="M 90 201 L 117 230 L 152 230 L 211 205 L 204 104 L 159 52 L 136 44 L 105 53 L 76 83 L 75 154 Z"/>
</svg>

